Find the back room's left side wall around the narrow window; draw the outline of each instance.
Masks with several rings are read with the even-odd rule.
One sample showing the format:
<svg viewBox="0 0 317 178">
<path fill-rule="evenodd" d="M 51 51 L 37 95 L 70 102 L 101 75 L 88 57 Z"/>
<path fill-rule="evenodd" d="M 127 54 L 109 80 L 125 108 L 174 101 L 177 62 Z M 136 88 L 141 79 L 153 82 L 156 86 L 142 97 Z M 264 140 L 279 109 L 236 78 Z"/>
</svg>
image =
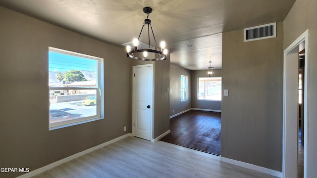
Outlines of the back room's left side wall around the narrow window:
<svg viewBox="0 0 317 178">
<path fill-rule="evenodd" d="M 180 75 L 188 77 L 188 100 L 182 102 L 180 101 Z M 169 77 L 169 116 L 172 116 L 191 108 L 191 71 L 175 65 L 170 65 Z"/>
</svg>

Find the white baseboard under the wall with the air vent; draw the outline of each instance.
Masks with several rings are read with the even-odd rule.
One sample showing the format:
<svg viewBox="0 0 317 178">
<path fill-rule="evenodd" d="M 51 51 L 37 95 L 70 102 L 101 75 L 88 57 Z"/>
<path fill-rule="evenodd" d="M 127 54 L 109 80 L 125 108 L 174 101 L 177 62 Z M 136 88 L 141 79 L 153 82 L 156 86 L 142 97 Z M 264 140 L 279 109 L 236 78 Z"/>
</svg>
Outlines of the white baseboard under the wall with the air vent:
<svg viewBox="0 0 317 178">
<path fill-rule="evenodd" d="M 282 172 L 271 170 L 271 169 L 264 168 L 264 167 L 257 166 L 257 165 L 253 165 L 253 164 L 250 164 L 250 163 L 245 163 L 245 162 L 242 162 L 242 161 L 237 161 L 237 160 L 233 160 L 233 159 L 229 159 L 229 158 L 225 158 L 225 157 L 221 157 L 221 156 L 220 156 L 220 161 L 226 162 L 226 163 L 229 163 L 229 164 L 233 164 L 233 165 L 236 165 L 236 166 L 240 166 L 240 167 L 243 167 L 243 168 L 259 171 L 259 172 L 262 172 L 262 173 L 265 173 L 265 174 L 269 174 L 269 175 L 272 175 L 272 176 L 275 176 L 275 177 L 279 177 L 279 178 L 282 177 Z"/>
</svg>

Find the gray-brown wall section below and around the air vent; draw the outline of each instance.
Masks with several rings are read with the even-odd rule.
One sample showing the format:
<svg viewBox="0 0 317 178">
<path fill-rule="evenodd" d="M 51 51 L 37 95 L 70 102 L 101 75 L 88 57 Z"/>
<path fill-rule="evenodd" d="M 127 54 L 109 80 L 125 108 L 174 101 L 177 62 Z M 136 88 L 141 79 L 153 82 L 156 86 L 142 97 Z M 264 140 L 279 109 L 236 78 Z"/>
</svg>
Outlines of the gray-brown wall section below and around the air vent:
<svg viewBox="0 0 317 178">
<path fill-rule="evenodd" d="M 223 33 L 222 89 L 221 156 L 282 171 L 283 22 L 271 39 Z"/>
</svg>

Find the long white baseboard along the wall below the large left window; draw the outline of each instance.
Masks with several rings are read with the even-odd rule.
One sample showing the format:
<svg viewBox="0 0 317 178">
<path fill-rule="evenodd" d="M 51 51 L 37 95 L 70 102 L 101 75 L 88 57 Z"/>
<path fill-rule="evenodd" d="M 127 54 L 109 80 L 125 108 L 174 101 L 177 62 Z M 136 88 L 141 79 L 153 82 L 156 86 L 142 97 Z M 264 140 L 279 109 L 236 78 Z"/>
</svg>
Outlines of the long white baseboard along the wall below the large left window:
<svg viewBox="0 0 317 178">
<path fill-rule="evenodd" d="M 59 166 L 59 165 L 61 165 L 61 164 L 63 164 L 63 163 L 66 163 L 66 162 L 68 162 L 68 161 L 71 161 L 71 160 L 73 160 L 73 159 L 75 159 L 75 158 L 78 158 L 78 157 L 80 157 L 80 156 L 83 156 L 83 155 L 85 155 L 85 154 L 87 154 L 87 153 L 90 153 L 90 152 L 92 152 L 92 151 L 95 151 L 95 150 L 97 150 L 97 149 L 99 149 L 99 148 L 102 148 L 102 147 L 104 147 L 104 146 L 106 146 L 106 145 L 108 145 L 108 144 L 111 144 L 111 143 L 114 143 L 114 142 L 116 142 L 116 141 L 119 141 L 120 139 L 123 139 L 123 138 L 128 137 L 128 136 L 132 136 L 132 134 L 129 133 L 129 134 L 125 134 L 125 135 L 119 136 L 119 137 L 117 137 L 117 138 L 114 138 L 114 139 L 112 139 L 112 140 L 109 140 L 109 141 L 107 141 L 107 142 L 105 142 L 105 143 L 102 143 L 102 144 L 100 144 L 100 145 L 94 146 L 94 147 L 89 148 L 89 149 L 87 149 L 87 150 L 84 150 L 84 151 L 82 151 L 82 152 L 79 152 L 79 153 L 73 154 L 73 155 L 71 155 L 71 156 L 68 156 L 68 157 L 66 157 L 66 158 L 64 158 L 64 159 L 58 160 L 58 161 L 56 161 L 56 162 L 54 162 L 54 163 L 51 163 L 51 164 L 49 164 L 49 165 L 47 165 L 47 166 L 44 166 L 44 167 L 42 167 L 42 168 L 39 168 L 39 169 L 37 169 L 37 170 L 34 170 L 34 171 L 31 171 L 31 172 L 26 173 L 26 174 L 24 174 L 24 175 L 21 175 L 21 176 L 19 176 L 19 177 L 17 177 L 17 178 L 31 178 L 31 177 L 36 176 L 36 175 L 38 175 L 38 174 L 41 174 L 41 173 L 43 173 L 43 172 L 45 172 L 45 171 L 47 171 L 47 170 L 50 170 L 50 169 L 52 169 L 52 168 L 54 168 L 54 167 L 56 167 L 56 166 Z"/>
</svg>

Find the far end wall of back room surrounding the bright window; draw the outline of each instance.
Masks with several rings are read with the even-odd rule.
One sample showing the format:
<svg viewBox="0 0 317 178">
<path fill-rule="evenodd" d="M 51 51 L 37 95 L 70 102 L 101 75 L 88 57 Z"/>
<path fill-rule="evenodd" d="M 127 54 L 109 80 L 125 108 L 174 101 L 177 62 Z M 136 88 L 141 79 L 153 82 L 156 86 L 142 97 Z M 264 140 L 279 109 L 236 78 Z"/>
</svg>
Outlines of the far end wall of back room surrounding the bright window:
<svg viewBox="0 0 317 178">
<path fill-rule="evenodd" d="M 207 101 L 207 100 L 198 100 L 197 98 L 197 89 L 198 89 L 198 78 L 199 77 L 206 77 L 206 70 L 200 71 L 192 71 L 192 108 L 199 108 L 199 109 L 209 109 L 209 110 L 217 110 L 221 111 L 221 101 Z M 214 70 L 215 77 L 221 77 L 221 69 Z"/>
</svg>

